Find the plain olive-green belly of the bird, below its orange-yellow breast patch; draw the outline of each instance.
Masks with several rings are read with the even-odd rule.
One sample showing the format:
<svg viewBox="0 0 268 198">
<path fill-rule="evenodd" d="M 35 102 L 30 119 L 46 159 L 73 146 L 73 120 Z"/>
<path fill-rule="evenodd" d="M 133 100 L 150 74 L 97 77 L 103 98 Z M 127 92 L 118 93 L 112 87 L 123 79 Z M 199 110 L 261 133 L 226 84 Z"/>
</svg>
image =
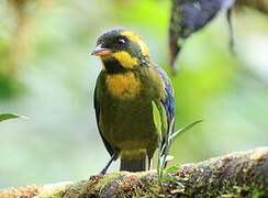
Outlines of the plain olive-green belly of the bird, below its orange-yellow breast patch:
<svg viewBox="0 0 268 198">
<path fill-rule="evenodd" d="M 150 102 L 113 102 L 101 112 L 101 131 L 107 141 L 123 150 L 155 150 L 157 131 Z"/>
</svg>

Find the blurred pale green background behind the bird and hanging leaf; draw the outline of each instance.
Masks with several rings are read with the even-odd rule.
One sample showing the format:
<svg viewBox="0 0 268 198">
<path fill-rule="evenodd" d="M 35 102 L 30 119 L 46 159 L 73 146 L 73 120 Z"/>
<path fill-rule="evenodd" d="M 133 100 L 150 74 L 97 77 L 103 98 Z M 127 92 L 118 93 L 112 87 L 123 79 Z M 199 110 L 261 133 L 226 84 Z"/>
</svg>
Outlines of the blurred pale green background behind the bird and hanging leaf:
<svg viewBox="0 0 268 198">
<path fill-rule="evenodd" d="M 0 188 L 86 179 L 109 155 L 97 131 L 92 92 L 99 34 L 124 26 L 146 40 L 167 72 L 169 0 L 2 0 Z M 198 162 L 268 144 L 268 16 L 234 15 L 236 56 L 224 13 L 191 36 L 171 77 L 176 128 L 203 119 L 175 142 L 170 163 Z M 110 172 L 118 169 L 113 164 Z"/>
</svg>

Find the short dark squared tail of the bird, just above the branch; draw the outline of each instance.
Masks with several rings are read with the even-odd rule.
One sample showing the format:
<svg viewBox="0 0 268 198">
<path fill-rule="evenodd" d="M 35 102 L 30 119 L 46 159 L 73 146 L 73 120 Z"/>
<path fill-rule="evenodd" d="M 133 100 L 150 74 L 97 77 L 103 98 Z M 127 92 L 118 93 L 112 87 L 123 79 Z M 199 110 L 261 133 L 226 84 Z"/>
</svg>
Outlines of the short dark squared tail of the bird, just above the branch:
<svg viewBox="0 0 268 198">
<path fill-rule="evenodd" d="M 146 170 L 146 156 L 139 158 L 121 158 L 120 170 L 144 172 Z"/>
</svg>

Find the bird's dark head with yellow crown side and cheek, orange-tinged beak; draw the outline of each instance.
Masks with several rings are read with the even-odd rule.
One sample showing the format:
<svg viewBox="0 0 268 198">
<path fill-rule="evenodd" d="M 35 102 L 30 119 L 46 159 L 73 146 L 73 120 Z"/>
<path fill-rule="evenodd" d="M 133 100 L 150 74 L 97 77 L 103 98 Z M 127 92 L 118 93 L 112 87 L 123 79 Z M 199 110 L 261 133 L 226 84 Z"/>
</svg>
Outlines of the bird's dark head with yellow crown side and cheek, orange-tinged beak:
<svg viewBox="0 0 268 198">
<path fill-rule="evenodd" d="M 104 32 L 98 38 L 92 55 L 100 56 L 104 69 L 111 73 L 134 69 L 149 59 L 149 51 L 144 40 L 125 29 Z"/>
</svg>

